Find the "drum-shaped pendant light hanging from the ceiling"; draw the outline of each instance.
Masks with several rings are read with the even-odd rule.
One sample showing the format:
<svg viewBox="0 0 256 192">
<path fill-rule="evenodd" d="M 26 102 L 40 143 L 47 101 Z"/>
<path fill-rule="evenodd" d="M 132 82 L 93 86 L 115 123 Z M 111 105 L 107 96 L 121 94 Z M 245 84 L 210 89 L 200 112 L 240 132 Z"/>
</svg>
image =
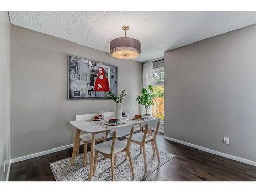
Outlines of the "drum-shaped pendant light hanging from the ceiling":
<svg viewBox="0 0 256 192">
<path fill-rule="evenodd" d="M 110 53 L 117 59 L 135 59 L 140 54 L 140 41 L 126 37 L 129 26 L 124 25 L 125 37 L 113 39 L 110 42 Z"/>
</svg>

